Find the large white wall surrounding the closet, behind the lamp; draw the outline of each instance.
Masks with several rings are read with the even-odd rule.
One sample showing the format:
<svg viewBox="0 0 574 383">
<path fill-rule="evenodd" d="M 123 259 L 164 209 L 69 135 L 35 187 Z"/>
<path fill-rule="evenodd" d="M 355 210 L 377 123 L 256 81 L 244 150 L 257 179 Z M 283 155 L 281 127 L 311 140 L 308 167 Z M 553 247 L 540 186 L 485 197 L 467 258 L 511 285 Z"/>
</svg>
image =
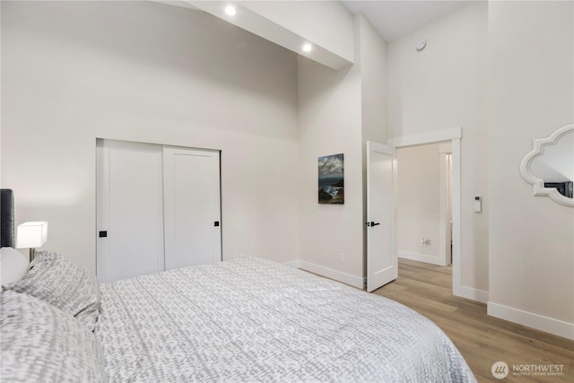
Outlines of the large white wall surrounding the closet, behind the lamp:
<svg viewBox="0 0 574 383">
<path fill-rule="evenodd" d="M 101 137 L 222 150 L 223 257 L 297 258 L 296 55 L 166 4 L 1 6 L 2 187 L 45 248 L 95 270 Z"/>
</svg>

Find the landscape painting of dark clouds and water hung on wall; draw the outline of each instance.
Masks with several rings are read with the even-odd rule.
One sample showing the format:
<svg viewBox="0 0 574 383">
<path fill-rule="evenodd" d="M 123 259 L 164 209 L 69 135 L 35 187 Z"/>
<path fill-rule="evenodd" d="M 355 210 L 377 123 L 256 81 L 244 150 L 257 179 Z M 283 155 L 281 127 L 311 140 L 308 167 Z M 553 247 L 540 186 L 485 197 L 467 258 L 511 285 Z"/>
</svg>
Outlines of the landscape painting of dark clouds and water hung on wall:
<svg viewBox="0 0 574 383">
<path fill-rule="evenodd" d="M 319 204 L 344 204 L 344 155 L 318 159 Z"/>
</svg>

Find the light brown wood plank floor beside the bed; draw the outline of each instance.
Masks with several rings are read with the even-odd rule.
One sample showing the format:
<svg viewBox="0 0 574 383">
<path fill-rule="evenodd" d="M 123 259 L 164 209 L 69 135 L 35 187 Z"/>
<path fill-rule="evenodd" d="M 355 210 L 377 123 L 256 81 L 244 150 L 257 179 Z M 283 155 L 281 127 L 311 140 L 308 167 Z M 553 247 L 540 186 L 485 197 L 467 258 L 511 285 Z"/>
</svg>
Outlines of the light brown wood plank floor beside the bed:
<svg viewBox="0 0 574 383">
<path fill-rule="evenodd" d="M 397 300 L 433 322 L 452 339 L 479 382 L 574 382 L 574 342 L 486 315 L 486 305 L 452 295 L 451 267 L 399 259 L 398 278 L 374 293 Z M 494 379 L 495 361 L 509 365 Z M 512 365 L 563 364 L 562 376 L 513 376 Z"/>
</svg>

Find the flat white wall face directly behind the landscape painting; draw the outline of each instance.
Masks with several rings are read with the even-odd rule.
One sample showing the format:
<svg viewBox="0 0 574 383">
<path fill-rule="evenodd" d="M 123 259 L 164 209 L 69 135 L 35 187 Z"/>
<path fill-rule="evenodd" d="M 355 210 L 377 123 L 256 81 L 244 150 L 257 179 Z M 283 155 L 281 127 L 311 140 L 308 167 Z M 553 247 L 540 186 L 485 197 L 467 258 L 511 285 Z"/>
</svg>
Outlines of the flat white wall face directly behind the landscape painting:
<svg viewBox="0 0 574 383">
<path fill-rule="evenodd" d="M 299 59 L 300 260 L 362 278 L 361 73 Z M 344 205 L 317 203 L 317 158 L 344 153 Z M 344 253 L 345 262 L 339 262 Z M 309 268 L 309 266 L 307 267 Z M 319 272 L 317 269 L 311 271 Z M 352 281 L 347 281 L 352 283 Z M 361 283 L 359 283 L 361 284 Z"/>
</svg>

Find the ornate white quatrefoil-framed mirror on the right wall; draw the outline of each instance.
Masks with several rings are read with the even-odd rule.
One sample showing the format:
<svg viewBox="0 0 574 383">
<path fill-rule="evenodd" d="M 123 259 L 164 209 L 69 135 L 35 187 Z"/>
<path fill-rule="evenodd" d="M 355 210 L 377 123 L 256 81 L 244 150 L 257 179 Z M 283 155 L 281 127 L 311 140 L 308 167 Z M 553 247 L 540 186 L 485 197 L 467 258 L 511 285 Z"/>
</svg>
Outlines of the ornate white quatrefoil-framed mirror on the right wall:
<svg viewBox="0 0 574 383">
<path fill-rule="evenodd" d="M 574 124 L 533 141 L 534 149 L 520 162 L 520 174 L 534 187 L 535 196 L 549 196 L 561 205 L 574 206 Z"/>
</svg>

